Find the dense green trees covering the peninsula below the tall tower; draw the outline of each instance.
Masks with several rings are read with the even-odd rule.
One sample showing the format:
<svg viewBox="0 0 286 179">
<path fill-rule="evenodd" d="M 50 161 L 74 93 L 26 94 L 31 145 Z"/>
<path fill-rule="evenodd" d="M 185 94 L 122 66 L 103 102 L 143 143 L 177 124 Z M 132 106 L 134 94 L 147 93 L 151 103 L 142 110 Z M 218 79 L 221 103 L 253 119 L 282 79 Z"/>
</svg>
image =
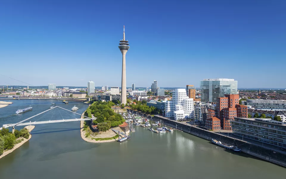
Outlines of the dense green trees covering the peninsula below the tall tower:
<svg viewBox="0 0 286 179">
<path fill-rule="evenodd" d="M 116 114 L 113 109 L 111 109 L 114 105 L 112 101 L 96 101 L 88 107 L 85 115 L 91 118 L 91 114 L 93 114 L 94 117 L 97 118 L 93 123 L 98 124 L 100 131 L 106 131 L 110 129 L 110 127 L 118 126 L 125 121 L 120 114 Z M 108 126 L 107 128 L 106 125 Z"/>
</svg>

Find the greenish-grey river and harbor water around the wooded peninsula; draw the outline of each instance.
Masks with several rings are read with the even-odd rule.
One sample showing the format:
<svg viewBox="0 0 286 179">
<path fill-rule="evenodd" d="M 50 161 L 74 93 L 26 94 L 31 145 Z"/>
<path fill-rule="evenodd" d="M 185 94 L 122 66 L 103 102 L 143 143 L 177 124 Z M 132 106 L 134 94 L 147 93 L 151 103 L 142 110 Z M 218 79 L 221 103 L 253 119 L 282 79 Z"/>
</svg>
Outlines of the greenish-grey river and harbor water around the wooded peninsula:
<svg viewBox="0 0 286 179">
<path fill-rule="evenodd" d="M 76 101 L 14 100 L 0 108 L 0 125 L 38 114 L 54 106 L 51 103 L 69 110 L 76 105 L 80 114 L 88 107 Z M 29 105 L 32 111 L 13 115 Z M 80 118 L 62 109 L 53 110 L 35 120 Z M 179 131 L 157 134 L 135 126 L 136 132 L 124 143 L 88 143 L 80 137 L 79 128 L 80 122 L 36 125 L 27 143 L 0 159 L 1 178 L 238 179 L 285 178 L 286 174 L 283 167 Z"/>
</svg>

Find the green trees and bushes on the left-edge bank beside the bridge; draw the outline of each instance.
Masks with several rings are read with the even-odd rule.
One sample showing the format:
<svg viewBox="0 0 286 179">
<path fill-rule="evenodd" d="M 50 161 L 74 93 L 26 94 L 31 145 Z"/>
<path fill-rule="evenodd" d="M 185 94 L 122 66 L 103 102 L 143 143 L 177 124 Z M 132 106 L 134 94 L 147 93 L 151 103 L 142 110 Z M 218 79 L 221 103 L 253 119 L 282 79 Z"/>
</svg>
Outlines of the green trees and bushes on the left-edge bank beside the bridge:
<svg viewBox="0 0 286 179">
<path fill-rule="evenodd" d="M 9 129 L 2 129 L 0 131 L 0 155 L 3 154 L 4 150 L 12 149 L 15 146 L 16 139 L 20 137 L 29 138 L 29 131 L 25 128 L 20 131 L 15 129 L 14 134 L 12 134 Z"/>
</svg>

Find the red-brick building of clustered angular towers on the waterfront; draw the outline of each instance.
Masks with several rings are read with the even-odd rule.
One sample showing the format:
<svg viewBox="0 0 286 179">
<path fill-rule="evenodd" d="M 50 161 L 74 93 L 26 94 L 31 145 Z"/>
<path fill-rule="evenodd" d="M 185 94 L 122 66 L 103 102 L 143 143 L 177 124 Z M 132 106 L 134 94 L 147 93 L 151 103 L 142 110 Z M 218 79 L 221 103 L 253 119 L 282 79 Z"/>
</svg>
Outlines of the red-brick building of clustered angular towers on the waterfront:
<svg viewBox="0 0 286 179">
<path fill-rule="evenodd" d="M 239 104 L 239 95 L 226 94 L 218 97 L 216 104 L 217 118 L 221 121 L 224 130 L 231 130 L 230 121 L 236 117 L 247 118 L 247 106 Z"/>
</svg>

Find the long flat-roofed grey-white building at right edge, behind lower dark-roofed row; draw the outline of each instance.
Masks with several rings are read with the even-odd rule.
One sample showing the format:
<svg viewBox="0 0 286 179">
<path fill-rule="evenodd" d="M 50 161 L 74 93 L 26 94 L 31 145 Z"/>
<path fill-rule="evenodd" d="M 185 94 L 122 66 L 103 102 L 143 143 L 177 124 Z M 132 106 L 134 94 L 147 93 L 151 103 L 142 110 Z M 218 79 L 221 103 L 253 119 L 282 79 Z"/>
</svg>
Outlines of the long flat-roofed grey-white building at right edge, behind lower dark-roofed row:
<svg viewBox="0 0 286 179">
<path fill-rule="evenodd" d="M 286 110 L 286 101 L 268 99 L 247 99 L 246 104 L 255 109 L 263 110 Z"/>
</svg>

